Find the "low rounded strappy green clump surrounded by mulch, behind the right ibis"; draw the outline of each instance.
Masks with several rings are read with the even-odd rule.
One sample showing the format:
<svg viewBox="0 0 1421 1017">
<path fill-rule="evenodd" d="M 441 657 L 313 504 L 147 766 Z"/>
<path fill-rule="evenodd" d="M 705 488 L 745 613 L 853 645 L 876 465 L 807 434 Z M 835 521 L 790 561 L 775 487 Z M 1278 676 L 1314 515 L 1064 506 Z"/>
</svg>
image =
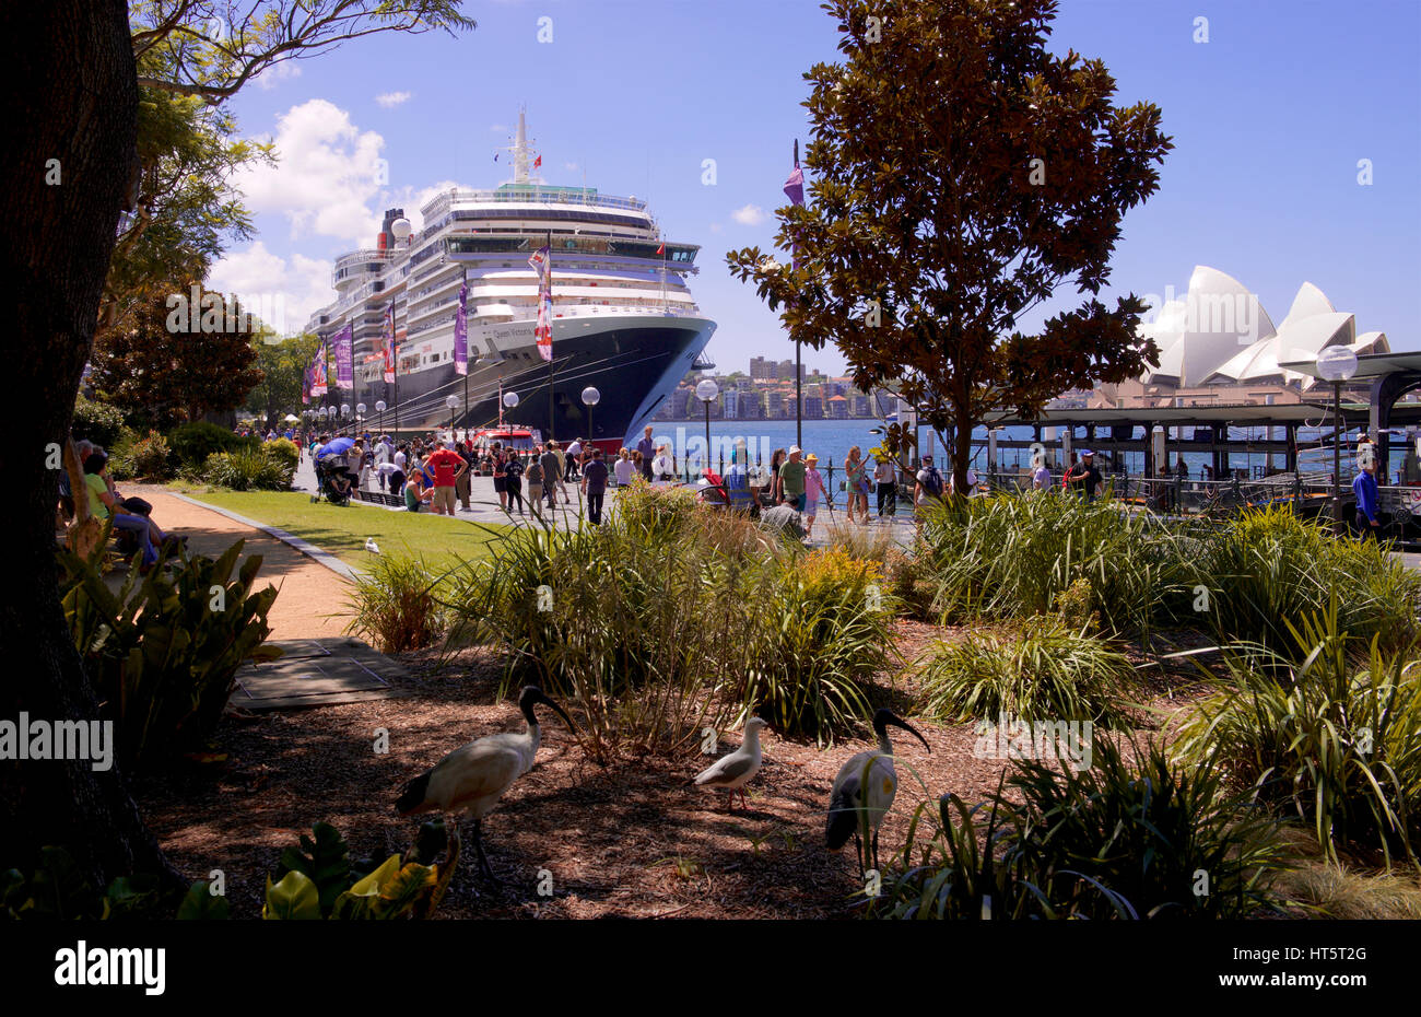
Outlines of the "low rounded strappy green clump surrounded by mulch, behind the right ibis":
<svg viewBox="0 0 1421 1017">
<path fill-rule="evenodd" d="M 1130 718 L 1120 696 L 1133 684 L 1134 669 L 1108 643 L 1046 616 L 1012 634 L 939 640 L 929 647 L 919 677 L 926 717 L 995 721 L 1006 714 L 1123 727 Z"/>
</svg>

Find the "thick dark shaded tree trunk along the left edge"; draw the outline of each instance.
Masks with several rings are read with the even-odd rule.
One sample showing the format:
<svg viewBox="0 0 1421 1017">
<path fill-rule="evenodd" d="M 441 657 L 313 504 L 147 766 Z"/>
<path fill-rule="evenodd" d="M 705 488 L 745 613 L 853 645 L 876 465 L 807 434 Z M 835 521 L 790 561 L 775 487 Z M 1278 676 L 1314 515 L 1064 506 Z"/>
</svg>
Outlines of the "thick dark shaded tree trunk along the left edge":
<svg viewBox="0 0 1421 1017">
<path fill-rule="evenodd" d="M 124 0 L 4 4 L 0 38 L 11 68 L 6 129 L 14 154 L 0 171 L 0 277 L 14 287 L 0 344 L 11 388 L 28 407 L 11 414 L 10 441 L 0 442 L 11 522 L 0 592 L 0 720 L 92 720 L 98 703 L 58 603 L 57 471 L 45 462 L 47 449 L 68 437 L 138 166 L 128 10 Z M 0 761 L 0 868 L 26 869 L 40 845 L 57 843 L 98 889 L 135 872 L 176 883 L 118 767 L 92 765 Z"/>
</svg>

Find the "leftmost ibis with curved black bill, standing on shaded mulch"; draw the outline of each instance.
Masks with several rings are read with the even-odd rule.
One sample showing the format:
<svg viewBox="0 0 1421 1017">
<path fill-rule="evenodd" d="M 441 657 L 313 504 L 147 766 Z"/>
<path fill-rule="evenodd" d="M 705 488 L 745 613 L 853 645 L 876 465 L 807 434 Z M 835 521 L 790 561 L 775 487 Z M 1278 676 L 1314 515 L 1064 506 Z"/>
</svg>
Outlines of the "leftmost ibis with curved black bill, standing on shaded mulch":
<svg viewBox="0 0 1421 1017">
<path fill-rule="evenodd" d="M 453 750 L 439 764 L 405 785 L 395 811 L 401 815 L 416 812 L 468 812 L 473 818 L 473 848 L 479 855 L 479 870 L 493 883 L 499 879 L 483 856 L 483 816 L 493 811 L 499 798 L 533 768 L 533 757 L 541 734 L 533 705 L 541 703 L 553 708 L 573 730 L 563 707 L 550 700 L 537 686 L 524 686 L 519 696 L 519 710 L 527 721 L 522 734 L 506 731 L 490 734 Z"/>
</svg>

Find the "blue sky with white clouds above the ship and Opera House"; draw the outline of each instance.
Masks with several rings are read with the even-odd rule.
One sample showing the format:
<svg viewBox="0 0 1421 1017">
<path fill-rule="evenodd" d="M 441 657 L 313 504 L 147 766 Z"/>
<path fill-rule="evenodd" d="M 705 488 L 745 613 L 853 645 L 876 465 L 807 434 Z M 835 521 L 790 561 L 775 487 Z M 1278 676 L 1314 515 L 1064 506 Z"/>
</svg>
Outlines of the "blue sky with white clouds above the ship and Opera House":
<svg viewBox="0 0 1421 1017">
<path fill-rule="evenodd" d="M 358 40 L 234 100 L 243 134 L 274 137 L 283 158 L 242 179 L 260 235 L 227 252 L 213 284 L 281 292 L 300 327 L 331 299 L 330 262 L 372 246 L 385 208 L 414 213 L 439 185 L 503 182 L 507 155 L 493 155 L 526 104 L 547 182 L 581 185 L 585 171 L 588 186 L 648 198 L 669 238 L 702 245 L 692 293 L 719 321 L 709 353 L 722 370 L 793 357 L 725 252 L 772 245 L 790 142 L 807 141 L 801 74 L 837 57 L 816 0 L 465 10 L 472 33 Z M 537 40 L 541 17 L 551 43 Z M 1199 17 L 1208 43 L 1194 41 Z M 1358 331 L 1421 348 L 1421 0 L 1064 0 L 1050 47 L 1101 58 L 1117 102 L 1155 102 L 1174 137 L 1160 192 L 1125 218 L 1114 292 L 1182 294 L 1209 265 L 1277 323 L 1307 280 Z M 713 186 L 703 159 L 716 161 Z M 843 368 L 831 348 L 806 363 Z"/>
</svg>

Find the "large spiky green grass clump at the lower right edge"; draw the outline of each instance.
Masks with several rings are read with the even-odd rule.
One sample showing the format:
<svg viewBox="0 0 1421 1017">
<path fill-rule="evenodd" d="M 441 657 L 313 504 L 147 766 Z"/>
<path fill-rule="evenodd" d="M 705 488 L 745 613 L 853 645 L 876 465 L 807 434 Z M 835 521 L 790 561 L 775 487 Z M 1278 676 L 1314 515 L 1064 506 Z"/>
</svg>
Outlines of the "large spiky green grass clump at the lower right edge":
<svg viewBox="0 0 1421 1017">
<path fill-rule="evenodd" d="M 1175 751 L 1221 760 L 1259 797 L 1302 816 L 1336 861 L 1339 845 L 1400 852 L 1421 845 L 1421 661 L 1387 657 L 1373 636 L 1366 666 L 1339 610 L 1293 630 L 1302 664 L 1263 647 L 1225 659 L 1228 680 L 1179 728 Z"/>
</svg>

